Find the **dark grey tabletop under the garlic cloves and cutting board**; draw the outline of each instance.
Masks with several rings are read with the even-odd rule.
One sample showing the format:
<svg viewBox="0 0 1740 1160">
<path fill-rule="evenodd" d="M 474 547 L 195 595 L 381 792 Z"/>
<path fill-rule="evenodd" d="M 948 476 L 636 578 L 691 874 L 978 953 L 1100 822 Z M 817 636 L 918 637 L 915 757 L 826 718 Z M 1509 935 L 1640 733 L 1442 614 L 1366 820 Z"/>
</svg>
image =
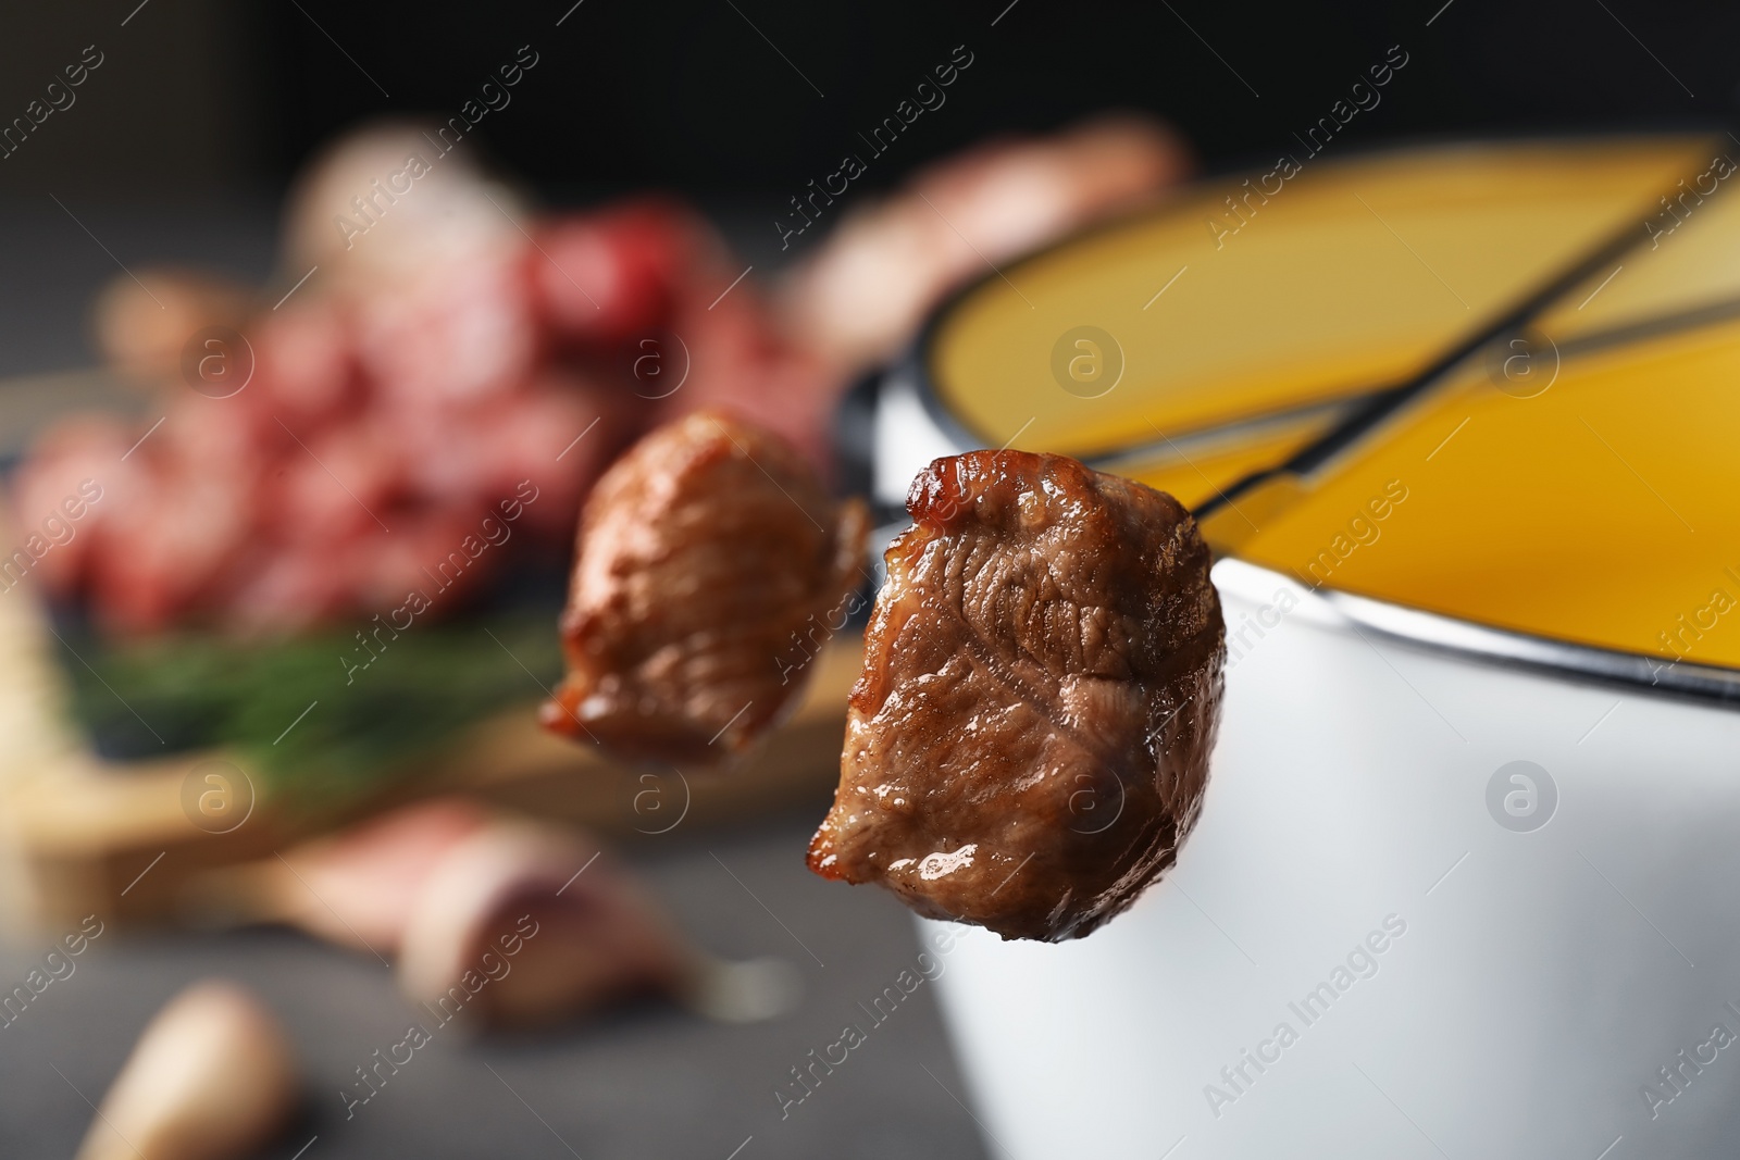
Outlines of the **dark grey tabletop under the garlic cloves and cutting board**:
<svg viewBox="0 0 1740 1160">
<path fill-rule="evenodd" d="M 270 270 L 268 200 L 139 207 L 115 191 L 61 200 L 0 200 L 0 377 L 44 376 L 37 391 L 78 393 L 77 374 L 63 372 L 94 363 L 87 304 L 122 264 L 218 264 L 254 278 Z M 16 443 L 23 431 L 0 435 Z M 339 1089 L 353 1068 L 404 1038 L 416 1017 L 381 963 L 289 930 L 117 930 L 0 1028 L 0 1157 L 73 1155 L 92 1118 L 87 1099 L 101 1099 L 151 1014 L 209 976 L 261 995 L 299 1054 L 304 1111 L 263 1153 L 271 1160 L 985 1157 L 929 986 L 781 1118 L 774 1090 L 790 1068 L 846 1023 L 863 1023 L 858 1003 L 919 953 L 910 917 L 889 896 L 804 868 L 825 805 L 733 831 L 677 830 L 626 850 L 698 944 L 797 967 L 804 993 L 786 1016 L 724 1026 L 649 1003 L 538 1037 L 466 1040 L 444 1028 L 346 1118 Z M 0 990 L 23 983 L 49 937 L 0 946 Z"/>
</svg>

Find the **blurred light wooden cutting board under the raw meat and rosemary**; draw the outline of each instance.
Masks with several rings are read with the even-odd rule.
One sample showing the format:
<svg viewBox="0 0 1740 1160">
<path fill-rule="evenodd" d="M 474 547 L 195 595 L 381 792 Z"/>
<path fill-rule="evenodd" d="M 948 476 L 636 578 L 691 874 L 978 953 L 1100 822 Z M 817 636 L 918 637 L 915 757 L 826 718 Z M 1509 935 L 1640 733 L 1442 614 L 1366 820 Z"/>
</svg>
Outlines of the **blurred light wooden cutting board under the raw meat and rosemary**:
<svg viewBox="0 0 1740 1160">
<path fill-rule="evenodd" d="M 291 816 L 270 800 L 226 833 L 197 824 L 204 776 L 223 753 L 151 762 L 99 758 L 70 723 L 64 675 L 47 619 L 28 586 L 0 593 L 0 925 L 59 929 L 84 915 L 129 923 L 202 922 L 188 883 L 207 871 L 270 857 L 303 838 L 405 802 L 465 795 L 539 819 L 606 831 L 621 842 L 814 805 L 820 821 L 839 774 L 846 696 L 861 642 L 818 652 L 802 703 L 740 765 L 635 769 L 536 723 L 536 703 L 472 727 L 426 772 L 343 810 Z M 244 769 L 245 774 L 245 769 Z M 188 790 L 190 781 L 193 790 Z M 252 781 L 252 779 L 249 779 Z M 240 786 L 223 791 L 245 795 Z"/>
</svg>

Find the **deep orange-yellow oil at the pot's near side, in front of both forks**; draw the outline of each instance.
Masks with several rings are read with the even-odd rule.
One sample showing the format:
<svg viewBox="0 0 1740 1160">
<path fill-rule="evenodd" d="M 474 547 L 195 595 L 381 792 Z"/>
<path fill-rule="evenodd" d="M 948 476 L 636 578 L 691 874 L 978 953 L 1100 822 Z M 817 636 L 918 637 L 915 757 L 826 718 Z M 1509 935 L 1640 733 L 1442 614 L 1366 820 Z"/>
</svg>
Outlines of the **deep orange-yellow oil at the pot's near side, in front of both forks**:
<svg viewBox="0 0 1740 1160">
<path fill-rule="evenodd" d="M 1740 666 L 1740 607 L 1719 610 L 1740 602 L 1737 449 L 1740 325 L 1568 362 L 1535 398 L 1472 370 L 1237 555 L 1498 628 Z M 1408 497 L 1378 520 L 1368 503 L 1392 480 Z"/>
</svg>

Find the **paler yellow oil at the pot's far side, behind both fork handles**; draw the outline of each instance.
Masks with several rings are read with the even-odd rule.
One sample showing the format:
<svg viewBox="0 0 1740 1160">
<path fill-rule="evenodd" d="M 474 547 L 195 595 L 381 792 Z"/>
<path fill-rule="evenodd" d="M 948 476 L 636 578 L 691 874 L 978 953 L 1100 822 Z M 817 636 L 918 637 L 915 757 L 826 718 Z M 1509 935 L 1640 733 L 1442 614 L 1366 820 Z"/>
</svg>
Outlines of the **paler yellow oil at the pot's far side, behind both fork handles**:
<svg viewBox="0 0 1740 1160">
<path fill-rule="evenodd" d="M 1007 268 L 1009 282 L 987 280 L 940 320 L 931 379 L 987 445 L 1032 417 L 1018 447 L 1079 457 L 1152 442 L 1150 423 L 1176 437 L 1389 386 L 1641 221 L 1658 193 L 1702 170 L 1707 146 L 1528 143 L 1307 162 L 1218 243 L 1208 223 L 1237 221 L 1221 198 L 1242 184 L 1209 181 L 1161 214 Z M 1124 351 L 1105 397 L 1079 398 L 1053 376 L 1053 346 L 1077 325 Z"/>
</svg>

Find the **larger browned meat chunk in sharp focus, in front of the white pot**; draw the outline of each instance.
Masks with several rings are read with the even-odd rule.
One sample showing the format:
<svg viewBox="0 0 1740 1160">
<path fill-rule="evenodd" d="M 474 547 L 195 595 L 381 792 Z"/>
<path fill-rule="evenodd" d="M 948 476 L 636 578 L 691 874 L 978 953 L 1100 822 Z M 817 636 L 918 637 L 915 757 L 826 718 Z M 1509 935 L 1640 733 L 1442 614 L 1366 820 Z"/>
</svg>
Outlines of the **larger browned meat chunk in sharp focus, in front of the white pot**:
<svg viewBox="0 0 1740 1160">
<path fill-rule="evenodd" d="M 809 868 L 1006 939 L 1084 936 L 1173 864 L 1202 802 L 1209 550 L 1171 496 L 1063 456 L 938 459 L 907 510 Z"/>
</svg>

